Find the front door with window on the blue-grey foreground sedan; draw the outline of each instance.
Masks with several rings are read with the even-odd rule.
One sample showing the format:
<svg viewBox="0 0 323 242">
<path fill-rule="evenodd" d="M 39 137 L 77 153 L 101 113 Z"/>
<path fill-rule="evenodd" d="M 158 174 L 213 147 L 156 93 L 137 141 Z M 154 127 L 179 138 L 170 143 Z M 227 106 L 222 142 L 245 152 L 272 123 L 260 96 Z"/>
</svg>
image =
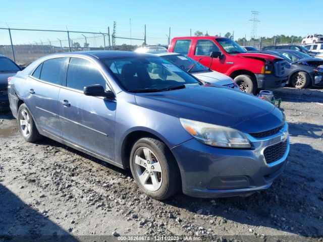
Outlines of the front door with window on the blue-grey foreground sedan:
<svg viewBox="0 0 323 242">
<path fill-rule="evenodd" d="M 71 57 L 66 87 L 59 94 L 63 138 L 69 143 L 107 159 L 114 159 L 115 101 L 85 96 L 84 86 L 100 84 L 109 90 L 96 64 L 86 58 Z"/>
</svg>

